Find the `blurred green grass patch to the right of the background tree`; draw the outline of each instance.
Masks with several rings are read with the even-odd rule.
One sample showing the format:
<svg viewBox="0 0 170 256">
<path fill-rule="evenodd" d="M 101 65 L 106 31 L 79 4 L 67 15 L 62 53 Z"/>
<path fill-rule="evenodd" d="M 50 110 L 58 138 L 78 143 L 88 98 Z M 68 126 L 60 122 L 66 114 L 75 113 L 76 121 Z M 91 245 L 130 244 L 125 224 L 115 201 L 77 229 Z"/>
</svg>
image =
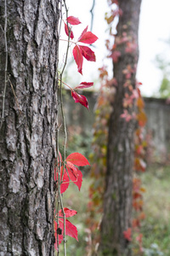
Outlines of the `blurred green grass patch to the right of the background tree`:
<svg viewBox="0 0 170 256">
<path fill-rule="evenodd" d="M 141 175 L 146 189 L 142 224 L 143 246 L 156 244 L 164 256 L 170 255 L 170 166 L 152 166 Z M 146 254 L 147 255 L 147 254 Z M 152 254 L 148 254 L 152 255 Z M 159 255 L 159 254 L 153 254 Z"/>
</svg>

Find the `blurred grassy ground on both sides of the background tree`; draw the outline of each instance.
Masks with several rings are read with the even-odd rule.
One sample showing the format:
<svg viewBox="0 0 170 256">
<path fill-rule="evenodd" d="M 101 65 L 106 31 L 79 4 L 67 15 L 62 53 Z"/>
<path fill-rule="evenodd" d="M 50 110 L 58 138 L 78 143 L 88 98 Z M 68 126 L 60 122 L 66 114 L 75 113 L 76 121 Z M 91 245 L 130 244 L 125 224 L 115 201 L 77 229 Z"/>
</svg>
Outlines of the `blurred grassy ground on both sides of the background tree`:
<svg viewBox="0 0 170 256">
<path fill-rule="evenodd" d="M 170 255 L 170 166 L 150 166 L 140 174 L 144 192 L 145 218 L 141 224 L 143 234 L 143 256 Z M 67 237 L 67 256 L 87 256 L 89 234 L 86 226 L 88 186 L 90 179 L 83 178 L 79 192 L 74 184 L 64 194 L 64 206 L 77 211 L 77 215 L 69 218 L 77 226 L 78 239 Z M 62 246 L 60 245 L 60 255 Z M 135 254 L 136 255 L 136 254 Z"/>
</svg>

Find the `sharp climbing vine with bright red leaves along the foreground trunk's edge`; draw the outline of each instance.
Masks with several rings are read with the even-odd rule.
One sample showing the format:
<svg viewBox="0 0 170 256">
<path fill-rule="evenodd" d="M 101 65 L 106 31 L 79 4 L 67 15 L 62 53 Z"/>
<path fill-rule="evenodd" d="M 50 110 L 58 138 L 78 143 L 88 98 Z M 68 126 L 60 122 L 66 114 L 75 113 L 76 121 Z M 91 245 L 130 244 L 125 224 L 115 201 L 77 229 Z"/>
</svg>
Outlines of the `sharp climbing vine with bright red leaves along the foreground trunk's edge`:
<svg viewBox="0 0 170 256">
<path fill-rule="evenodd" d="M 82 64 L 83 58 L 87 61 L 95 61 L 94 51 L 90 49 L 88 46 L 83 44 L 94 44 L 94 42 L 98 39 L 94 33 L 88 32 L 88 26 L 82 31 L 82 34 L 77 39 L 77 41 L 73 41 L 74 33 L 72 30 L 72 26 L 77 26 L 81 23 L 81 21 L 74 17 L 68 16 L 68 9 L 65 4 L 65 0 L 63 1 L 65 6 L 66 18 L 63 19 L 62 15 L 62 3 L 60 5 L 61 11 L 61 22 L 59 25 L 59 34 L 62 28 L 61 23 L 64 23 L 65 26 L 65 34 L 67 39 L 60 38 L 60 41 L 67 43 L 67 49 L 65 53 L 65 63 L 62 68 L 62 71 L 59 73 L 59 97 L 60 97 L 60 108 L 61 108 L 61 115 L 63 119 L 63 126 L 65 131 L 65 145 L 64 145 L 64 153 L 63 156 L 59 152 L 59 129 L 57 132 L 57 151 L 58 151 L 58 159 L 56 160 L 56 165 L 54 169 L 54 185 L 56 188 L 56 207 L 54 210 L 54 236 L 55 236 L 55 244 L 54 247 L 59 255 L 59 244 L 64 241 L 64 254 L 66 255 L 66 237 L 71 236 L 78 240 L 77 237 L 77 228 L 74 224 L 67 219 L 69 217 L 74 216 L 77 214 L 77 211 L 64 207 L 63 204 L 63 193 L 65 190 L 68 189 L 70 183 L 75 183 L 80 190 L 82 187 L 82 172 L 77 168 L 77 166 L 88 166 L 88 160 L 80 153 L 72 153 L 69 154 L 67 157 L 65 155 L 66 151 L 66 143 L 67 143 L 67 131 L 66 131 L 66 124 L 65 124 L 65 114 L 63 110 L 63 96 L 62 84 L 63 82 L 63 73 L 65 71 L 66 63 L 67 63 L 67 56 L 68 50 L 71 48 L 72 44 L 74 45 L 72 49 L 72 55 L 74 60 L 77 64 L 77 71 L 78 73 L 82 74 Z M 88 99 L 77 93 L 76 90 L 82 90 L 84 88 L 89 88 L 93 86 L 94 83 L 92 82 L 82 82 L 81 84 L 77 85 L 74 89 L 69 85 L 65 84 L 71 90 L 71 96 L 76 103 L 82 104 L 83 107 L 88 108 Z M 60 126 L 60 125 L 58 125 Z"/>
</svg>

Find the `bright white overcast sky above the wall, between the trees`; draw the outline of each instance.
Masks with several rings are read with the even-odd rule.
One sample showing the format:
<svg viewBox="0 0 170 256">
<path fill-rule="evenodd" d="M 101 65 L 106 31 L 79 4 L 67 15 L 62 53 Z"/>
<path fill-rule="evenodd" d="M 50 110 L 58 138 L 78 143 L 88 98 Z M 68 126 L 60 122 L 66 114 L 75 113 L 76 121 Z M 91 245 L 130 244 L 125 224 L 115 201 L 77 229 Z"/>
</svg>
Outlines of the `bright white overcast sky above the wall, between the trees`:
<svg viewBox="0 0 170 256">
<path fill-rule="evenodd" d="M 106 0 L 96 0 L 94 8 L 94 27 L 93 32 L 99 38 L 96 42 L 96 63 L 84 61 L 83 79 L 77 73 L 78 79 L 89 81 L 98 79 L 98 68 L 105 61 L 105 39 L 108 32 L 105 22 L 105 12 L 108 10 Z M 73 15 L 82 21 L 82 25 L 74 26 L 77 37 L 79 33 L 91 23 L 89 10 L 92 8 L 92 0 L 67 0 L 69 15 Z M 137 79 L 143 83 L 141 90 L 144 96 L 152 96 L 159 88 L 161 83 L 161 72 L 156 68 L 155 58 L 160 53 L 165 53 L 163 40 L 170 38 L 170 0 L 142 0 L 140 23 L 139 23 L 139 66 Z M 170 51 L 170 47 L 169 47 Z M 168 55 L 169 53 L 166 52 Z M 76 68 L 76 67 L 75 67 Z"/>
</svg>

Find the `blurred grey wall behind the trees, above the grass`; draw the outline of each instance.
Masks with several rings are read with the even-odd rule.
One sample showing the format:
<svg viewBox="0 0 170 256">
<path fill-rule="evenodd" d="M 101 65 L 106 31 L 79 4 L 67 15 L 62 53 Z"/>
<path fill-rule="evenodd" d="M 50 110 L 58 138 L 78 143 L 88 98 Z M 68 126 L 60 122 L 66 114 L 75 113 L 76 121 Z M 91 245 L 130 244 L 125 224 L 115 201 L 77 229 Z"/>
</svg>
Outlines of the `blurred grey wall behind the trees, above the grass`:
<svg viewBox="0 0 170 256">
<path fill-rule="evenodd" d="M 92 132 L 94 124 L 94 108 L 97 93 L 83 92 L 88 98 L 89 111 L 74 102 L 70 92 L 65 92 L 65 116 L 67 125 L 82 127 L 82 132 Z M 166 100 L 144 98 L 144 110 L 148 118 L 145 133 L 151 134 L 150 144 L 157 157 L 170 154 L 170 105 Z"/>
</svg>

